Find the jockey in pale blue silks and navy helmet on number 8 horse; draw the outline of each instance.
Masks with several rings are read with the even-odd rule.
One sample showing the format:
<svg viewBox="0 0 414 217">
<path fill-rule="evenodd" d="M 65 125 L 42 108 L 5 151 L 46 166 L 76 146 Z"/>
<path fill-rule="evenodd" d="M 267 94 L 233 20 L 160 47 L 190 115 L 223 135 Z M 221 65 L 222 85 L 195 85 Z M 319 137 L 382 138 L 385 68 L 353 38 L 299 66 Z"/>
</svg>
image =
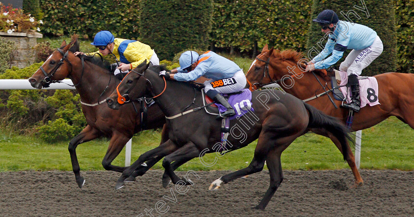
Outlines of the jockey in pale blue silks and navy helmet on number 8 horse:
<svg viewBox="0 0 414 217">
<path fill-rule="evenodd" d="M 351 87 L 352 102 L 343 104 L 343 107 L 359 112 L 358 76 L 361 75 L 362 69 L 382 53 L 380 37 L 369 27 L 339 20 L 333 10 L 320 12 L 313 22 L 318 23 L 321 31 L 328 34 L 329 38 L 323 51 L 308 62 L 307 70 L 328 68 L 342 58 L 345 50 L 352 49 L 339 67 L 339 70 L 347 72 L 348 84 Z M 332 55 L 326 58 L 331 53 Z"/>
</svg>

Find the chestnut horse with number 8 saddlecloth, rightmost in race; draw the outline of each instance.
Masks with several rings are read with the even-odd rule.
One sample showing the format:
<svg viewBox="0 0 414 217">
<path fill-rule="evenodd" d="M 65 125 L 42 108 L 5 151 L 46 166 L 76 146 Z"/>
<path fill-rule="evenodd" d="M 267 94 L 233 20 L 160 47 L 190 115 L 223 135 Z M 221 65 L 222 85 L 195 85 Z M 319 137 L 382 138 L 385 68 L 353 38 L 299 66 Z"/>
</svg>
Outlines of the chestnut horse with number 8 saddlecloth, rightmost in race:
<svg viewBox="0 0 414 217">
<path fill-rule="evenodd" d="M 302 100 L 313 98 L 315 95 L 324 93 L 321 84 L 310 72 L 304 72 L 305 64 L 301 62 L 303 55 L 301 53 L 286 50 L 277 51 L 268 49 L 266 45 L 262 53 L 257 56 L 256 60 L 250 66 L 247 72 L 248 81 L 257 89 L 268 83 L 276 82 L 280 84 L 286 93 L 290 93 Z M 299 62 L 299 63 L 298 63 Z M 330 77 L 326 76 L 325 70 L 315 70 L 316 77 L 325 86 L 326 90 L 332 89 L 329 82 Z M 390 116 L 396 116 L 398 119 L 414 128 L 414 74 L 404 73 L 385 73 L 374 76 L 377 78 L 379 86 L 380 105 L 365 106 L 359 113 L 355 113 L 351 129 L 353 131 L 369 128 L 382 122 Z M 280 83 L 283 79 L 283 84 Z M 333 98 L 333 93 L 329 93 Z M 336 117 L 346 123 L 348 110 L 341 108 L 341 101 L 335 101 L 338 109 L 334 107 L 328 95 L 321 95 L 317 98 L 307 101 L 323 113 Z M 338 141 L 331 136 L 326 130 L 312 130 L 317 134 L 331 137 L 332 141 L 341 150 Z M 355 182 L 362 185 L 362 178 L 359 176 L 355 167 L 352 152 L 348 150 L 348 164 L 354 172 Z"/>
</svg>

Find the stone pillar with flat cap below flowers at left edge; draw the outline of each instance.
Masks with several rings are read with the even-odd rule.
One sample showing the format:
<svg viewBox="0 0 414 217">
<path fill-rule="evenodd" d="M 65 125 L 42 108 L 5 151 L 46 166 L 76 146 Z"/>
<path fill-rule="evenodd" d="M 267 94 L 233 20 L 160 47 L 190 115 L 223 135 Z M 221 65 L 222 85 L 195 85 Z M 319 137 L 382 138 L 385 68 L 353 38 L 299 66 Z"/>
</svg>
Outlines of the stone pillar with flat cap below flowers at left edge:
<svg viewBox="0 0 414 217">
<path fill-rule="evenodd" d="M 17 50 L 14 52 L 14 58 L 11 65 L 23 68 L 35 62 L 36 52 L 33 49 L 37 43 L 37 38 L 43 37 L 42 34 L 31 31 L 25 32 L 7 32 L 0 31 L 0 37 L 14 41 Z"/>
</svg>

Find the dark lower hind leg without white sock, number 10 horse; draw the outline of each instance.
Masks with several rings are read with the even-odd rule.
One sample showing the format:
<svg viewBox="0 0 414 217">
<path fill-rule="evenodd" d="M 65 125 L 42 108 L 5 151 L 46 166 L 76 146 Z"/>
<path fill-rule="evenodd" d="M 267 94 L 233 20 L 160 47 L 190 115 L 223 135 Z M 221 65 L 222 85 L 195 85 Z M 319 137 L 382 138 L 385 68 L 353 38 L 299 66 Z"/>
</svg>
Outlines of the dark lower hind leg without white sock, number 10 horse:
<svg viewBox="0 0 414 217">
<path fill-rule="evenodd" d="M 265 193 L 265 196 L 260 201 L 259 205 L 255 207 L 256 209 L 264 210 L 266 208 L 270 199 L 272 199 L 277 188 L 283 181 L 283 172 L 281 166 L 282 164 L 280 162 L 280 155 L 281 152 L 276 152 L 276 150 L 272 150 L 266 157 L 266 165 L 270 173 L 270 185 Z"/>
</svg>

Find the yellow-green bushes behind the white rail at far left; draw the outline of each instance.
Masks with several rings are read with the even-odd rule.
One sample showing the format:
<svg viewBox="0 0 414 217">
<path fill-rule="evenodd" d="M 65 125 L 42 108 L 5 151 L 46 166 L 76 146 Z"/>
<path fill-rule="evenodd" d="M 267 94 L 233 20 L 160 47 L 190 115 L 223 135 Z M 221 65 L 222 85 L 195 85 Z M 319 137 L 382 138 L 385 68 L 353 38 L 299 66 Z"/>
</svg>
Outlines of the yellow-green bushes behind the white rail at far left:
<svg viewBox="0 0 414 217">
<path fill-rule="evenodd" d="M 13 66 L 0 79 L 28 79 L 42 64 Z M 4 90 L 0 98 L 0 127 L 14 133 L 37 132 L 43 140 L 57 142 L 72 138 L 86 126 L 79 94 L 74 91 Z"/>
</svg>

